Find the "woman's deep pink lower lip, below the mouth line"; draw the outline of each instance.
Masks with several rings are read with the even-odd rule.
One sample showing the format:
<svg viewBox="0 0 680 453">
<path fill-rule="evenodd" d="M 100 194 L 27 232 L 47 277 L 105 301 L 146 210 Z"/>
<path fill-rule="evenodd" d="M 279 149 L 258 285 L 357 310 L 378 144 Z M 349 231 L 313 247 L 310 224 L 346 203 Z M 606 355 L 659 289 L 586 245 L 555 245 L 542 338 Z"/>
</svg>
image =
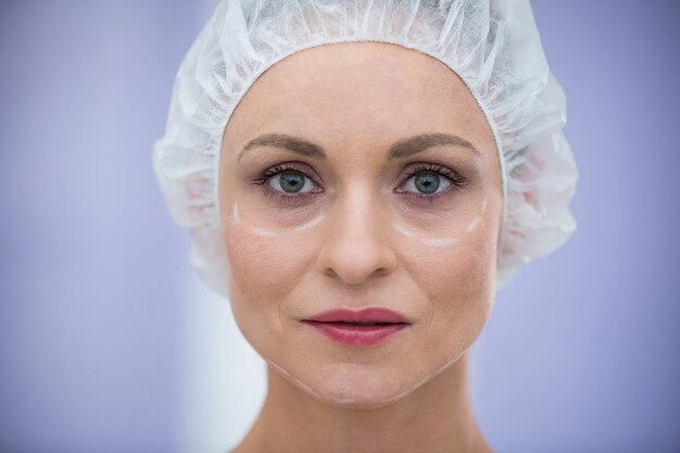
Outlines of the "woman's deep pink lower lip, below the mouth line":
<svg viewBox="0 0 680 453">
<path fill-rule="evenodd" d="M 356 324 L 319 323 L 303 320 L 333 341 L 351 347 L 373 347 L 386 341 L 389 337 L 408 327 L 407 324 L 389 324 L 387 326 L 361 326 Z"/>
</svg>

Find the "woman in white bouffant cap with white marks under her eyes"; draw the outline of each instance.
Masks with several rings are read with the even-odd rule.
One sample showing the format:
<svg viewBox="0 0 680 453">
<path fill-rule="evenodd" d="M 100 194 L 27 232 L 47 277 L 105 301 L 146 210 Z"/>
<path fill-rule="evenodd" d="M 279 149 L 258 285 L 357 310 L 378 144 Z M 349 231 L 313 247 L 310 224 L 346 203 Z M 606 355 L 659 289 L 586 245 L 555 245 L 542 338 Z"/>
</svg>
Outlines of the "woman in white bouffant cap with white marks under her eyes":
<svg viewBox="0 0 680 453">
<path fill-rule="evenodd" d="M 224 1 L 154 168 L 267 362 L 234 450 L 488 452 L 468 349 L 574 231 L 565 100 L 522 1 Z"/>
</svg>

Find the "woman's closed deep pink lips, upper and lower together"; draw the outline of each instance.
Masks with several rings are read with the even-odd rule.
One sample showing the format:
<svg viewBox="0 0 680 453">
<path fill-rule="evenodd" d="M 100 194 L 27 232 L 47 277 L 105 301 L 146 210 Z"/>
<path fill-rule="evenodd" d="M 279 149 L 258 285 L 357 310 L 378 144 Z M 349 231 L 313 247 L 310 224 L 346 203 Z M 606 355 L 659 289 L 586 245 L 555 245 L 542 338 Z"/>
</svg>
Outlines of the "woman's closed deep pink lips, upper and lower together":
<svg viewBox="0 0 680 453">
<path fill-rule="evenodd" d="M 358 312 L 345 309 L 331 310 L 311 319 L 303 319 L 302 323 L 316 328 L 333 341 L 352 347 L 378 344 L 411 325 L 399 313 L 380 307 L 370 307 Z M 355 323 L 389 324 L 361 325 Z"/>
</svg>

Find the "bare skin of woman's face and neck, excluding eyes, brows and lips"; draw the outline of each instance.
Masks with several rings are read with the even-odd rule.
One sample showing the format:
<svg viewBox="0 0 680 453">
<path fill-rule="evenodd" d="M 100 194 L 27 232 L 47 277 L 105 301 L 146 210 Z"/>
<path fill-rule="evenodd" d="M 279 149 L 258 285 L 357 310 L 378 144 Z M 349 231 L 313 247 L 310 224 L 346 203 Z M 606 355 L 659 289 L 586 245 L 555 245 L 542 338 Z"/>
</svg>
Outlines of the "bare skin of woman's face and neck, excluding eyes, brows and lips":
<svg viewBox="0 0 680 453">
<path fill-rule="evenodd" d="M 238 159 L 250 140 L 273 133 L 314 142 L 327 158 L 259 146 Z M 446 144 L 387 159 L 394 142 L 428 133 L 455 134 L 478 153 Z M 316 192 L 284 205 L 265 192 L 277 190 L 270 180 L 252 183 L 282 163 L 310 174 Z M 405 183 L 415 163 L 453 169 L 466 184 L 436 201 L 404 193 L 417 190 Z M 491 129 L 450 68 L 379 42 L 282 60 L 230 117 L 218 190 L 232 313 L 269 363 L 264 406 L 235 453 L 491 451 L 470 408 L 468 350 L 495 295 L 501 176 Z M 425 243 L 445 237 L 457 241 Z M 369 305 L 411 326 L 355 348 L 301 323 Z"/>
</svg>

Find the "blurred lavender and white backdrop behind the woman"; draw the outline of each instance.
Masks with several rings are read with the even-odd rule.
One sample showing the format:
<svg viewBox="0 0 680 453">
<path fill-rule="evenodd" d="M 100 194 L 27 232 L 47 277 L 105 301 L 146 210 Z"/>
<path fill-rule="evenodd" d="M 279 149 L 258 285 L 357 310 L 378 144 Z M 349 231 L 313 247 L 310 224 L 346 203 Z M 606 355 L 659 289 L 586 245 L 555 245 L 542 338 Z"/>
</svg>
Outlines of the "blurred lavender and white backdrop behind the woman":
<svg viewBox="0 0 680 453">
<path fill-rule="evenodd" d="M 214 3 L 0 0 L 0 452 L 224 453 L 259 413 L 151 167 Z M 679 452 L 680 3 L 532 4 L 579 226 L 499 293 L 475 411 L 499 453 Z"/>
</svg>

